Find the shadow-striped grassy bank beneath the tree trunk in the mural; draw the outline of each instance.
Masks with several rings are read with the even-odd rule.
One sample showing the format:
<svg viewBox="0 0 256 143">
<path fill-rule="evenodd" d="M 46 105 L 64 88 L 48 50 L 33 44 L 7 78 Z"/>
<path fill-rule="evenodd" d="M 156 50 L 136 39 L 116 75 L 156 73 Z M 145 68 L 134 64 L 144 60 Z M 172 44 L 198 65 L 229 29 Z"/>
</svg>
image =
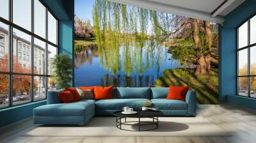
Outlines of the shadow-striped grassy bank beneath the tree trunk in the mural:
<svg viewBox="0 0 256 143">
<path fill-rule="evenodd" d="M 164 70 L 163 76 L 156 80 L 156 86 L 184 86 L 196 91 L 197 102 L 202 104 L 218 103 L 218 69 L 209 75 L 195 76 L 194 70 Z"/>
</svg>

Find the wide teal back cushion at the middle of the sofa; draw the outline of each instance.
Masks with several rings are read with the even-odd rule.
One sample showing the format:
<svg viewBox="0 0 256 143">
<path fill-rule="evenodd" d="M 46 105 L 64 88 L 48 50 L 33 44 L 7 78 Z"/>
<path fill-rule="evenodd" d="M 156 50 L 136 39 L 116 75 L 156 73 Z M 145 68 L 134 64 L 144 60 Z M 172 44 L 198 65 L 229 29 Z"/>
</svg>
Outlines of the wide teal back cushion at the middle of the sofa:
<svg viewBox="0 0 256 143">
<path fill-rule="evenodd" d="M 149 87 L 117 87 L 116 98 L 145 98 L 150 99 Z"/>
</svg>

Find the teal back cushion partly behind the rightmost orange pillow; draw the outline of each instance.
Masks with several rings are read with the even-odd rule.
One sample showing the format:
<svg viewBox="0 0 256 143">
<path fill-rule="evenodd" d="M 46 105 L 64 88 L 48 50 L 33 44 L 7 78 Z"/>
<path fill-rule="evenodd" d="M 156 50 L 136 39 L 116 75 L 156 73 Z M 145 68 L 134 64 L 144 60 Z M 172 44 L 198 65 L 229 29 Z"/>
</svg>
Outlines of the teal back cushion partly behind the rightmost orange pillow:
<svg viewBox="0 0 256 143">
<path fill-rule="evenodd" d="M 151 99 L 166 98 L 169 92 L 169 87 L 151 87 Z"/>
</svg>

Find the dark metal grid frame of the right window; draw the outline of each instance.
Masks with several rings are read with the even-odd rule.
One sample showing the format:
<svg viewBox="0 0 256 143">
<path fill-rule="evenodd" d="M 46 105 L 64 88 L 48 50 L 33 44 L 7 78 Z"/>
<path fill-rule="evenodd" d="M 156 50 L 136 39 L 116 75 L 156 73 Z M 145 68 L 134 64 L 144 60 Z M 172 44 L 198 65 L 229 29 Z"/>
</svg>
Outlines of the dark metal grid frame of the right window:
<svg viewBox="0 0 256 143">
<path fill-rule="evenodd" d="M 244 22 L 242 22 L 239 26 L 236 27 L 236 95 L 237 96 L 243 96 L 241 94 L 239 94 L 239 78 L 241 77 L 247 77 L 248 79 L 248 88 L 247 88 L 247 96 L 243 96 L 243 97 L 247 97 L 247 98 L 253 98 L 255 99 L 256 97 L 252 97 L 251 96 L 251 78 L 252 77 L 256 77 L 256 75 L 252 75 L 251 74 L 251 63 L 250 63 L 250 59 L 251 59 L 251 55 L 250 55 L 250 51 L 253 47 L 256 46 L 256 43 L 250 43 L 250 39 L 251 39 L 251 35 L 250 35 L 250 20 L 253 18 L 253 17 L 256 17 L 256 13 L 251 15 L 248 19 L 246 19 Z M 243 24 L 245 24 L 246 22 L 248 22 L 248 41 L 247 41 L 247 45 L 244 46 L 244 47 L 241 47 L 239 48 L 239 27 L 243 26 Z M 248 55 L 248 67 L 247 67 L 247 75 L 239 75 L 239 51 L 241 50 L 244 50 L 244 49 L 247 49 L 247 55 Z"/>
</svg>

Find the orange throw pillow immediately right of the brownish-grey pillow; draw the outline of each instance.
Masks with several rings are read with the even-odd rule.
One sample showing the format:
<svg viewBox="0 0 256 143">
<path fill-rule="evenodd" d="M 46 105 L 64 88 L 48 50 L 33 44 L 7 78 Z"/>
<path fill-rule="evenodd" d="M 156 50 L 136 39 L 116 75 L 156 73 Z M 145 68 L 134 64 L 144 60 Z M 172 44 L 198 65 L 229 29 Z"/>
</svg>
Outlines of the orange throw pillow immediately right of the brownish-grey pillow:
<svg viewBox="0 0 256 143">
<path fill-rule="evenodd" d="M 106 100 L 113 99 L 113 86 L 102 87 L 96 86 L 94 87 L 95 100 Z"/>
</svg>

